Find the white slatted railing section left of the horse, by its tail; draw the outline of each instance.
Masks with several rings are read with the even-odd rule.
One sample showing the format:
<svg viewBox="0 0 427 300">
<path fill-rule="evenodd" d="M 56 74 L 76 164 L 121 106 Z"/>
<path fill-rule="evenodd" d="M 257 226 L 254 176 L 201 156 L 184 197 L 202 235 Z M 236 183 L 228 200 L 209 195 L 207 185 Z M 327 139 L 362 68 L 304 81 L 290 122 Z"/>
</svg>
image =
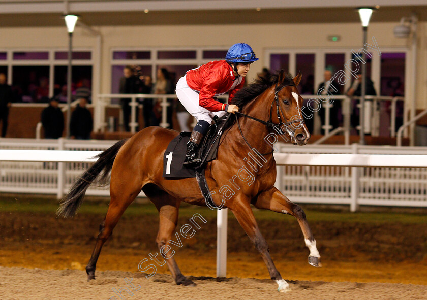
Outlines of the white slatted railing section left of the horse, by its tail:
<svg viewBox="0 0 427 300">
<path fill-rule="evenodd" d="M 49 150 L 49 154 L 53 155 L 54 152 L 51 150 L 103 151 L 115 142 L 62 138 L 57 140 L 0 139 L 0 149 Z M 38 152 L 31 153 L 38 155 Z M 19 153 L 19 157 L 21 161 L 5 161 L 6 153 L 3 152 L 0 156 L 0 192 L 56 194 L 58 198 L 62 198 L 75 178 L 91 164 L 90 162 L 53 162 L 38 156 L 35 161 L 27 162 L 25 159 L 28 154 L 23 153 Z M 87 194 L 108 196 L 108 186 L 102 188 L 90 186 Z"/>
</svg>

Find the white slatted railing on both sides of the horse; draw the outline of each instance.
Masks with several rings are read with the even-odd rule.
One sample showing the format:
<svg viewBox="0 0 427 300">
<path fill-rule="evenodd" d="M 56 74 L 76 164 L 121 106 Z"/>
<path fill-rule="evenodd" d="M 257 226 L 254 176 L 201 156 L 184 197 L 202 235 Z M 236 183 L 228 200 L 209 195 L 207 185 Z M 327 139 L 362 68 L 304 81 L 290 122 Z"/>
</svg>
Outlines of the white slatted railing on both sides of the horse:
<svg viewBox="0 0 427 300">
<path fill-rule="evenodd" d="M 34 140 L 34 139 L 0 139 L 3 150 L 83 150 L 102 151 L 115 141 L 79 141 L 79 140 Z M 294 158 L 294 162 L 278 166 L 276 187 L 283 191 L 292 201 L 299 203 L 325 203 L 351 205 L 351 210 L 363 205 L 386 206 L 427 206 L 427 169 L 415 168 L 409 164 L 409 158 L 427 153 L 426 147 L 391 147 L 391 146 L 344 146 L 344 145 L 307 145 L 295 147 L 280 144 L 283 154 L 378 154 L 407 155 L 398 162 L 388 162 L 389 166 L 377 165 L 365 161 L 366 165 L 354 165 L 353 160 L 337 165 L 337 157 L 314 164 L 308 160 L 308 166 Z M 50 152 L 52 153 L 53 152 Z M 18 153 L 18 152 L 17 152 Z M 36 154 L 37 152 L 33 152 Z M 0 157 L 0 192 L 46 193 L 62 197 L 90 162 L 52 162 L 36 157 L 37 161 L 5 161 Z M 53 157 L 53 156 L 52 156 Z M 278 165 L 281 154 L 276 154 Z M 301 156 L 299 156 L 301 157 Z M 399 156 L 395 156 L 398 158 Z M 399 157 L 402 159 L 401 157 Z M 305 159 L 305 158 L 304 158 Z M 419 159 L 418 166 L 427 159 Z M 351 163 L 353 164 L 351 164 Z M 393 164 L 392 164 L 393 163 Z M 397 164 L 400 163 L 400 164 Z M 295 165 L 297 164 L 297 165 Z M 406 165 L 406 167 L 404 167 Z M 349 168 L 350 167 L 350 168 Z M 369 167 L 369 168 L 368 168 Z M 398 168 L 399 167 L 399 168 Z M 108 196 L 108 187 L 91 186 L 89 195 Z"/>
</svg>

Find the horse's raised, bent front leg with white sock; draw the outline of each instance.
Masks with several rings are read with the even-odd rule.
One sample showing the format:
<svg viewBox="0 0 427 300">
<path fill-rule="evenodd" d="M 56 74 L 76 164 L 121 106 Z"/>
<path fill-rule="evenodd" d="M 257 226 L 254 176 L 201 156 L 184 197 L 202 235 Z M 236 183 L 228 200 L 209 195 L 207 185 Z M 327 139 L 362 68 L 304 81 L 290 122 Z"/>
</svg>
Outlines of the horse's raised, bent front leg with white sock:
<svg viewBox="0 0 427 300">
<path fill-rule="evenodd" d="M 316 240 L 307 222 L 306 214 L 297 204 L 290 201 L 277 188 L 273 187 L 259 194 L 255 207 L 294 216 L 301 227 L 306 246 L 310 250 L 309 263 L 313 266 L 322 266 L 320 254 L 316 247 Z"/>
</svg>

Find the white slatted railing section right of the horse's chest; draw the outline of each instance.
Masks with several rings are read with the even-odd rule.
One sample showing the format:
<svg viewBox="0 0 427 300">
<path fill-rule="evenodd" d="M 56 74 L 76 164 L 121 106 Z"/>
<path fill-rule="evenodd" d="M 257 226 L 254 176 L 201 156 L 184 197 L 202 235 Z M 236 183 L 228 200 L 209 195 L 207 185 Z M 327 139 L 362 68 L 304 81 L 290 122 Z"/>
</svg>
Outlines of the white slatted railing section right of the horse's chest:
<svg viewBox="0 0 427 300">
<path fill-rule="evenodd" d="M 389 166 L 368 160 L 355 165 L 356 156 L 347 164 L 337 165 L 339 155 L 329 160 L 322 156 L 325 160 L 320 165 L 311 162 L 304 166 L 307 164 L 294 157 L 292 165 L 278 168 L 276 180 L 276 187 L 294 202 L 347 204 L 351 211 L 356 211 L 358 205 L 427 207 L 427 169 L 423 168 L 427 156 L 413 156 L 425 155 L 426 147 L 282 144 L 279 149 L 289 154 L 369 154 L 376 160 L 379 154 L 394 155 L 388 158 Z M 411 157 L 418 158 L 415 165 L 409 164 Z"/>
</svg>

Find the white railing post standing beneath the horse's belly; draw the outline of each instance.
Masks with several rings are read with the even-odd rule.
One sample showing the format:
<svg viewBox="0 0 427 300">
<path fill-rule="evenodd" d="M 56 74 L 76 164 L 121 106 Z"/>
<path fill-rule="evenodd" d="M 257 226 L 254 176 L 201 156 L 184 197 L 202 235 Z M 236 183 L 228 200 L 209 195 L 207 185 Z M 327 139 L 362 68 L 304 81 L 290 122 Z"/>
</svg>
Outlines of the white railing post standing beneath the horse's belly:
<svg viewBox="0 0 427 300">
<path fill-rule="evenodd" d="M 227 217 L 228 209 L 217 211 L 217 277 L 227 276 Z"/>
</svg>

